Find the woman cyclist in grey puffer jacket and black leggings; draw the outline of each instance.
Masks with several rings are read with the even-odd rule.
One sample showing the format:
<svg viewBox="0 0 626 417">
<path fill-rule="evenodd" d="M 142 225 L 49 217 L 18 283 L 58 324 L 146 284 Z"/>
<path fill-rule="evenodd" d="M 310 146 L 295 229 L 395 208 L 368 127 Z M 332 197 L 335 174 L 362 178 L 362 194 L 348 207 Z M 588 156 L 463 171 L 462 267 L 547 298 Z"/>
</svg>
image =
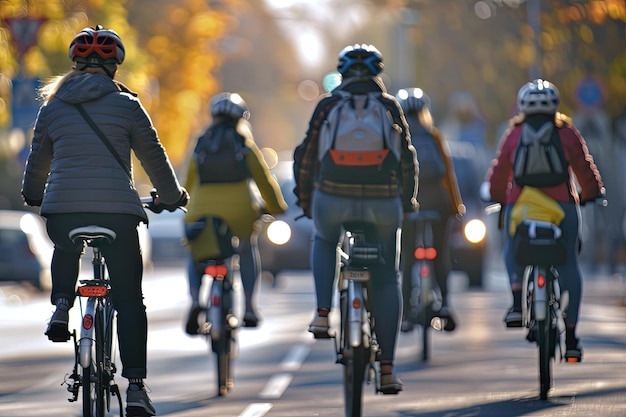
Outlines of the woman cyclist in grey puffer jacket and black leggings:
<svg viewBox="0 0 626 417">
<path fill-rule="evenodd" d="M 118 34 L 100 25 L 84 28 L 71 41 L 72 70 L 41 90 L 44 101 L 21 193 L 27 205 L 41 206 L 54 242 L 51 301 L 56 310 L 45 333 L 53 342 L 70 339 L 68 311 L 74 304 L 83 251 L 82 245 L 72 243 L 69 231 L 97 224 L 116 233 L 102 253 L 114 289 L 111 300 L 117 311 L 122 376 L 129 380 L 126 415 L 134 417 L 155 415 L 155 409 L 143 384 L 147 317 L 137 232 L 148 217 L 132 179 L 131 150 L 158 191 L 160 209 L 185 206 L 189 195 L 137 94 L 114 79 L 124 55 Z M 106 132 L 110 150 L 78 105 Z"/>
</svg>

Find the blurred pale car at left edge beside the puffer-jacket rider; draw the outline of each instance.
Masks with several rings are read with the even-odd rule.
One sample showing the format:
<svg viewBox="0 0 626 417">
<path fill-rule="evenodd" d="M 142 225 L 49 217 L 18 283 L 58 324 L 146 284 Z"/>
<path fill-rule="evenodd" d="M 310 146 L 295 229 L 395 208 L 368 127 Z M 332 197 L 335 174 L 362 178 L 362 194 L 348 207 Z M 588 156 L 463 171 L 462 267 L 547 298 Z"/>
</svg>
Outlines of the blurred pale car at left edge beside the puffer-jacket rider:
<svg viewBox="0 0 626 417">
<path fill-rule="evenodd" d="M 52 252 L 40 216 L 29 211 L 0 210 L 0 281 L 50 290 Z"/>
</svg>

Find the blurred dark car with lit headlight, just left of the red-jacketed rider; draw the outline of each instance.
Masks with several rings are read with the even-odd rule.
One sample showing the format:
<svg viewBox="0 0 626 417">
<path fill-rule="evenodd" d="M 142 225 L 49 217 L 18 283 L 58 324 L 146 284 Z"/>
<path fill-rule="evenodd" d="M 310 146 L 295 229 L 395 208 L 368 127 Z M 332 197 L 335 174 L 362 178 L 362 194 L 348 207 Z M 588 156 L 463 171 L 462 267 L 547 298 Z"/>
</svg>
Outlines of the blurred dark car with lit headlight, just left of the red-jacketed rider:
<svg viewBox="0 0 626 417">
<path fill-rule="evenodd" d="M 454 221 L 450 232 L 452 270 L 465 272 L 469 285 L 481 287 L 487 255 L 485 203 L 479 190 L 486 167 L 485 155 L 467 142 L 448 142 L 466 214 Z"/>
</svg>

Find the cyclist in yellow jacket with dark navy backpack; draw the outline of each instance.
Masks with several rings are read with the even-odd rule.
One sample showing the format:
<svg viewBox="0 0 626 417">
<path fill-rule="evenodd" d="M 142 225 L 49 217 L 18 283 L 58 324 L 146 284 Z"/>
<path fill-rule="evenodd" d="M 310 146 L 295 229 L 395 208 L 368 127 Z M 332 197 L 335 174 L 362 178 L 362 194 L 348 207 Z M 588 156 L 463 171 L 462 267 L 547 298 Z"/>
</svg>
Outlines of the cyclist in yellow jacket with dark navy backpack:
<svg viewBox="0 0 626 417">
<path fill-rule="evenodd" d="M 239 266 L 245 294 L 245 327 L 256 327 L 260 320 L 256 311 L 255 286 L 261 271 L 257 246 L 257 220 L 264 212 L 280 214 L 287 203 L 278 182 L 269 170 L 263 154 L 254 142 L 250 112 L 239 94 L 222 92 L 211 99 L 212 122 L 198 138 L 187 169 L 185 187 L 193 196 L 185 223 L 207 216 L 222 217 L 239 238 Z M 260 191 L 258 201 L 250 183 Z M 209 235 L 204 235 L 210 237 Z M 206 240 L 188 239 L 187 262 L 191 308 L 185 331 L 198 334 L 202 260 L 210 257 Z M 205 252 L 204 254 L 202 252 Z"/>
</svg>

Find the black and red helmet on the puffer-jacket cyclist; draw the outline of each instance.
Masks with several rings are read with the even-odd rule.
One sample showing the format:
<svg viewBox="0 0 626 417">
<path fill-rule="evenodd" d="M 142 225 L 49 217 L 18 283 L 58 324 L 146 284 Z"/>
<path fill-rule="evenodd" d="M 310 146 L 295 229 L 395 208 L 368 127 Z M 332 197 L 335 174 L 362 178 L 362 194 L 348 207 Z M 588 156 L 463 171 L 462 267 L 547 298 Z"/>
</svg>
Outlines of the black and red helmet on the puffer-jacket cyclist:
<svg viewBox="0 0 626 417">
<path fill-rule="evenodd" d="M 70 43 L 69 56 L 83 64 L 121 64 L 125 48 L 119 35 L 102 25 L 81 30 Z"/>
</svg>

